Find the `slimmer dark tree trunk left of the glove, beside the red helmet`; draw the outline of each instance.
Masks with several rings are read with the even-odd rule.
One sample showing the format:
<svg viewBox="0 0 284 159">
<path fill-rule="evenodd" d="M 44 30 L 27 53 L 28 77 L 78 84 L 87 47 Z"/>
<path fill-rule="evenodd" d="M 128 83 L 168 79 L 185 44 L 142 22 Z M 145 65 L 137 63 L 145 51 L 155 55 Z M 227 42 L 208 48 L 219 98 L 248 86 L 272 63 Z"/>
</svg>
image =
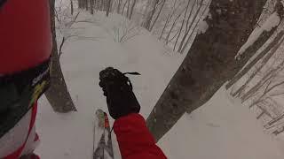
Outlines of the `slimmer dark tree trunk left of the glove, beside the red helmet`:
<svg viewBox="0 0 284 159">
<path fill-rule="evenodd" d="M 52 52 L 51 52 L 51 87 L 45 92 L 47 100 L 51 103 L 54 111 L 68 112 L 75 111 L 75 105 L 67 90 L 59 63 L 59 55 L 56 42 L 54 1 L 50 0 L 51 7 L 51 33 L 52 33 Z"/>
</svg>

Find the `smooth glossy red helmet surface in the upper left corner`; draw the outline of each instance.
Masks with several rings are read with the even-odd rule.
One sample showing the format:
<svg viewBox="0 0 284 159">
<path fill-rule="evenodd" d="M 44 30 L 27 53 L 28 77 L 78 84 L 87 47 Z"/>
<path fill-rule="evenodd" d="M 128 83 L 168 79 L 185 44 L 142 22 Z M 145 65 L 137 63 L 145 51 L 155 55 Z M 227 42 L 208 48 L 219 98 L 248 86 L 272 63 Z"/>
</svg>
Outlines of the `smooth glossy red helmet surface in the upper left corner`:
<svg viewBox="0 0 284 159">
<path fill-rule="evenodd" d="M 0 24 L 0 74 L 26 70 L 50 57 L 48 0 L 7 0 Z"/>
</svg>

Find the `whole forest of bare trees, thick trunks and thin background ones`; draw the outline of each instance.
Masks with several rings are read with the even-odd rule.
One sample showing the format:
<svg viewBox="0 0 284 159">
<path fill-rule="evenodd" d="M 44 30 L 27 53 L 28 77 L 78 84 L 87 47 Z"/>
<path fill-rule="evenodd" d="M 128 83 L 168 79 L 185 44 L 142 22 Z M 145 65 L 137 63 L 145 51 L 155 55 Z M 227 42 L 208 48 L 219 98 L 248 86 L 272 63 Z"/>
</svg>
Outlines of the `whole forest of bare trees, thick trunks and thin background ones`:
<svg viewBox="0 0 284 159">
<path fill-rule="evenodd" d="M 59 11 L 54 8 L 54 0 L 50 2 L 55 41 L 54 21 L 58 20 L 59 25 L 62 21 L 56 18 Z M 68 11 L 65 27 L 72 26 L 80 11 L 93 16 L 104 12 L 106 17 L 120 14 L 151 32 L 174 52 L 186 53 L 147 118 L 156 140 L 185 113 L 208 102 L 224 85 L 248 108 L 256 109 L 256 118 L 263 120 L 264 128 L 273 134 L 284 132 L 284 108 L 276 100 L 284 95 L 284 55 L 280 51 L 284 10 L 280 0 L 70 0 Z M 279 21 L 267 29 L 273 16 Z M 56 86 L 46 96 L 59 112 L 75 110 L 59 65 L 62 45 L 70 36 L 63 36 L 59 49 L 56 45 L 52 49 L 52 79 Z M 248 45 L 247 41 L 252 42 Z M 55 96 L 57 89 L 64 97 Z"/>
</svg>

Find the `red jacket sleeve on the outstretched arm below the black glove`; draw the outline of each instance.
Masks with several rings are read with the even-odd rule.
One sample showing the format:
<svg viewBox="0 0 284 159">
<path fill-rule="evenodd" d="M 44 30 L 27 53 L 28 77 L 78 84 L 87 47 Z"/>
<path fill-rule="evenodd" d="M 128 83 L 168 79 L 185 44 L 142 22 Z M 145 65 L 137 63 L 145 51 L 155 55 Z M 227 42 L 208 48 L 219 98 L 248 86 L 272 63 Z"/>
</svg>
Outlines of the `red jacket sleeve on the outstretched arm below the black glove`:
<svg viewBox="0 0 284 159">
<path fill-rule="evenodd" d="M 122 159 L 167 158 L 155 145 L 155 140 L 146 127 L 145 119 L 139 114 L 130 114 L 115 120 L 114 133 Z"/>
</svg>

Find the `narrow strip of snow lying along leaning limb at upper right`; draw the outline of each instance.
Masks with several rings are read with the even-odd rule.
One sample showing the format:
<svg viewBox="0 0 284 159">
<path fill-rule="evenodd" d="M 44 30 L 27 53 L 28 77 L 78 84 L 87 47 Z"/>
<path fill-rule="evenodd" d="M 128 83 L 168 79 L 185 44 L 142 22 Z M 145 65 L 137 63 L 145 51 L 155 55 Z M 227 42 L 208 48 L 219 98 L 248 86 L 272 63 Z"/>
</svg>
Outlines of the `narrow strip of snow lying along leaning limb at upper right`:
<svg viewBox="0 0 284 159">
<path fill-rule="evenodd" d="M 241 49 L 239 50 L 236 57 L 239 57 L 246 49 L 248 49 L 249 46 L 251 46 L 256 40 L 259 38 L 259 36 L 264 33 L 264 31 L 271 31 L 273 27 L 277 27 L 280 23 L 280 17 L 278 13 L 275 11 L 272 13 L 272 15 L 266 19 L 264 22 L 264 25 L 261 27 L 256 27 L 256 29 L 249 35 L 248 41 L 242 45 Z"/>
</svg>

